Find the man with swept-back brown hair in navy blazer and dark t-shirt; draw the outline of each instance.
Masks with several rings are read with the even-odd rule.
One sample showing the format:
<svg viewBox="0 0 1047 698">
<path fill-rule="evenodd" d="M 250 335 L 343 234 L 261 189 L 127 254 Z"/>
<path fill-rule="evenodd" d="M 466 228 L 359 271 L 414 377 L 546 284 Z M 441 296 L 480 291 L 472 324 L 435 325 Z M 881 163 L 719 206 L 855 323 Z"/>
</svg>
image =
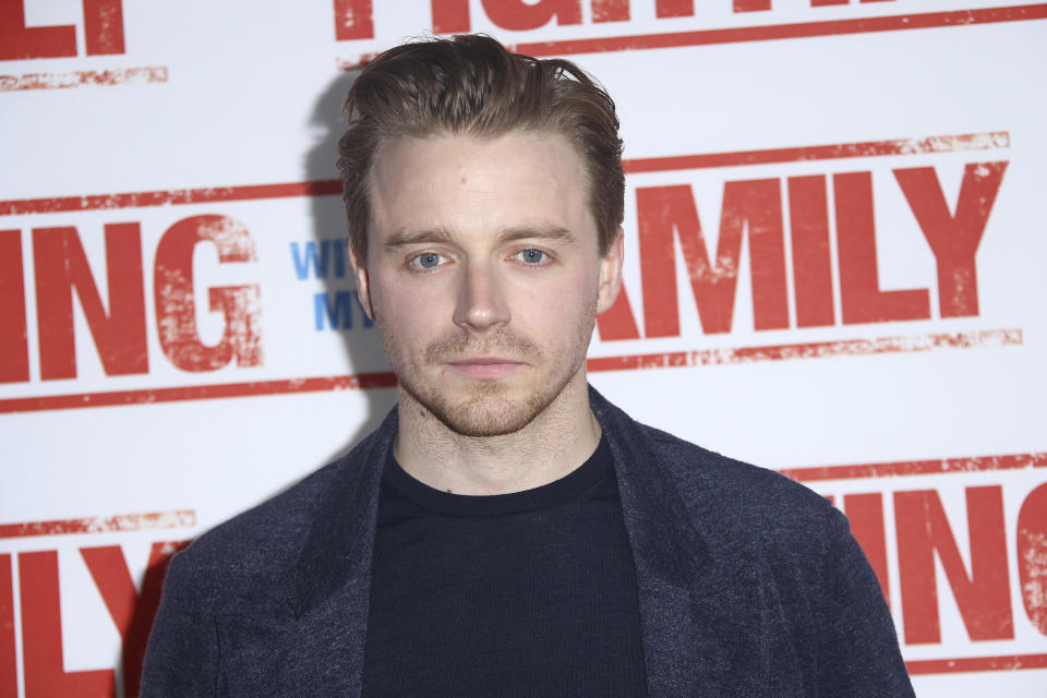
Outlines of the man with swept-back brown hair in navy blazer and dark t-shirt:
<svg viewBox="0 0 1047 698">
<path fill-rule="evenodd" d="M 147 696 L 912 696 L 846 520 L 587 386 L 621 287 L 607 95 L 460 36 L 376 58 L 339 148 L 399 404 L 171 563 Z"/>
</svg>

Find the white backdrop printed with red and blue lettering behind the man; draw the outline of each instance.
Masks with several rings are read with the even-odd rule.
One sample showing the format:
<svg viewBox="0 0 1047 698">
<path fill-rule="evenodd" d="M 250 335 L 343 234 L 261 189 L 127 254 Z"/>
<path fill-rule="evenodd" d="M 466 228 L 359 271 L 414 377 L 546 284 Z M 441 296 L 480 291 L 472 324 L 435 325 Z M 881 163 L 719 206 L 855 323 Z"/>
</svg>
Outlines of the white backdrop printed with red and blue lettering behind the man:
<svg viewBox="0 0 1047 698">
<path fill-rule="evenodd" d="M 460 31 L 618 104 L 592 383 L 832 496 L 920 698 L 1047 690 L 1047 4 L 0 8 L 0 698 L 134 694 L 165 554 L 392 407 L 339 104 Z"/>
</svg>

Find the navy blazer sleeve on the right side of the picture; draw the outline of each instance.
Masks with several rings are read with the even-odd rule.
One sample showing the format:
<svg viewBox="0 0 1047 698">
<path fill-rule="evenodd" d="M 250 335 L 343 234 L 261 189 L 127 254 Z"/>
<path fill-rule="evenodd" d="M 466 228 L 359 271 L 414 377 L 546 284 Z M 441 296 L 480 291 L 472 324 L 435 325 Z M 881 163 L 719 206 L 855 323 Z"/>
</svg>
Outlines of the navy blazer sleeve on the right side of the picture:
<svg viewBox="0 0 1047 698">
<path fill-rule="evenodd" d="M 847 519 L 837 509 L 830 517 L 819 695 L 914 698 L 876 574 Z"/>
</svg>

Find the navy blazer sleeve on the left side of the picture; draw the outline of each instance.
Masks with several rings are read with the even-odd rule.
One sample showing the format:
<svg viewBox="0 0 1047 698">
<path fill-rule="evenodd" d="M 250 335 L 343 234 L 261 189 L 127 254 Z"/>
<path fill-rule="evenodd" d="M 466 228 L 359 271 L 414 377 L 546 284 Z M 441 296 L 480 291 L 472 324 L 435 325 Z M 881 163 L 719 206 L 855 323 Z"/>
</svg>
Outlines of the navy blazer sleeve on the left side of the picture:
<svg viewBox="0 0 1047 698">
<path fill-rule="evenodd" d="M 171 559 L 142 671 L 142 698 L 224 695 L 209 585 L 186 550 Z"/>
</svg>

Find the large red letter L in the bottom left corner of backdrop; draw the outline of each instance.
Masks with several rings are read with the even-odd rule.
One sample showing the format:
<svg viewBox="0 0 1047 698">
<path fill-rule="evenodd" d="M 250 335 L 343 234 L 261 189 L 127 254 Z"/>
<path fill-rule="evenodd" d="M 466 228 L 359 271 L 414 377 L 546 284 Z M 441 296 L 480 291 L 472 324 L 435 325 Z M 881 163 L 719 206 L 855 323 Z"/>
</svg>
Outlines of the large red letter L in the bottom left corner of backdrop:
<svg viewBox="0 0 1047 698">
<path fill-rule="evenodd" d="M 26 698 L 112 696 L 116 677 L 111 669 L 65 672 L 58 553 L 19 553 L 19 589 L 22 593 L 22 657 Z"/>
</svg>

